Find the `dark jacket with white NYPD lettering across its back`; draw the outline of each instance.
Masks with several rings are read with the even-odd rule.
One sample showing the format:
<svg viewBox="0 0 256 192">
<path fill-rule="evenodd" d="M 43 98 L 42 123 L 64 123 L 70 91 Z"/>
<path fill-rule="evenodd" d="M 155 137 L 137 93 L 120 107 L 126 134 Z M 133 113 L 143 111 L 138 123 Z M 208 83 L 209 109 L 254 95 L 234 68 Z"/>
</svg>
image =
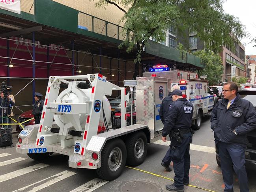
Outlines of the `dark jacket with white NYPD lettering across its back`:
<svg viewBox="0 0 256 192">
<path fill-rule="evenodd" d="M 192 123 L 193 105 L 186 98 L 174 101 L 164 117 L 162 136 L 166 137 L 170 130 L 189 129 Z"/>
</svg>

